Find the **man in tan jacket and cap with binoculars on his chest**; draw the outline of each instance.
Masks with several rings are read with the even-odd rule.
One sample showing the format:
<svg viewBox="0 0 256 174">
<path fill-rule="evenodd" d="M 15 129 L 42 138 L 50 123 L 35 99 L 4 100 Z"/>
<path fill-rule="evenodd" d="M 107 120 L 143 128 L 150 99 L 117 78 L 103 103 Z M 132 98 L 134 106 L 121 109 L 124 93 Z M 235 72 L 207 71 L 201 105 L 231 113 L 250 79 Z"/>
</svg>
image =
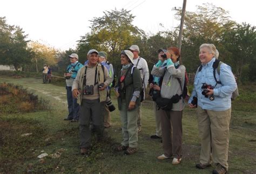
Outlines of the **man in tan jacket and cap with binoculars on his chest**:
<svg viewBox="0 0 256 174">
<path fill-rule="evenodd" d="M 106 87 L 112 82 L 107 69 L 98 63 L 98 51 L 91 49 L 87 53 L 88 63 L 77 73 L 72 85 L 73 97 L 80 105 L 80 154 L 87 154 L 91 144 L 90 121 L 101 140 L 104 133 L 103 109 L 106 102 Z"/>
</svg>

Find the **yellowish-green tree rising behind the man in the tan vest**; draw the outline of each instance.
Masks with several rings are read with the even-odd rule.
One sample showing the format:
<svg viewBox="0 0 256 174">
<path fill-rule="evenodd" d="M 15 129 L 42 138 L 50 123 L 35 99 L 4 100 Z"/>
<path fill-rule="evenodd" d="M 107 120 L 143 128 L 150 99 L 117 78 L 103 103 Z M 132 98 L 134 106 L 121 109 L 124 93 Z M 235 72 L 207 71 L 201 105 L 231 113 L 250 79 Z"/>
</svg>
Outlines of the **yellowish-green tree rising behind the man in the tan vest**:
<svg viewBox="0 0 256 174">
<path fill-rule="evenodd" d="M 132 25 L 134 16 L 127 10 L 104 12 L 103 17 L 93 18 L 91 32 L 81 37 L 78 52 L 87 53 L 89 49 L 104 50 L 112 63 L 119 64 L 119 54 L 136 43 L 144 31 Z M 118 63 L 117 63 L 118 61 Z"/>
</svg>

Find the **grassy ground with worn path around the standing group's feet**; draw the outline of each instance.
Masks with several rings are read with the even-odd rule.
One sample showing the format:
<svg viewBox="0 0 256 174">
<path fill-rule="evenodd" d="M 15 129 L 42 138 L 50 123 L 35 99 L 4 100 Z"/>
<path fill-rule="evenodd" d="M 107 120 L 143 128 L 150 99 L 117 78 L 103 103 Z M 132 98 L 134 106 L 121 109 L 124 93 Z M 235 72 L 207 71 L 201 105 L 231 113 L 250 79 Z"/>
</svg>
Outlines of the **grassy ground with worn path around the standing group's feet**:
<svg viewBox="0 0 256 174">
<path fill-rule="evenodd" d="M 154 134 L 151 101 L 143 103 L 139 150 L 131 156 L 113 149 L 122 140 L 118 110 L 111 113 L 112 126 L 106 129 L 109 140 L 96 143 L 90 154 L 79 154 L 78 124 L 64 121 L 68 114 L 64 86 L 42 84 L 41 78 L 0 77 L 0 83 L 22 85 L 49 101 L 49 110 L 0 115 L 0 173 L 211 173 L 213 168 L 198 170 L 200 140 L 196 111 L 186 108 L 183 115 L 183 161 L 158 161 L 163 154 Z M 232 105 L 230 125 L 229 173 L 256 173 L 256 85 L 242 86 Z M 1 97 L 1 96 L 0 96 Z M 113 97 L 113 103 L 117 101 Z M 21 136 L 32 133 L 28 136 Z M 38 155 L 49 156 L 39 160 Z"/>
</svg>

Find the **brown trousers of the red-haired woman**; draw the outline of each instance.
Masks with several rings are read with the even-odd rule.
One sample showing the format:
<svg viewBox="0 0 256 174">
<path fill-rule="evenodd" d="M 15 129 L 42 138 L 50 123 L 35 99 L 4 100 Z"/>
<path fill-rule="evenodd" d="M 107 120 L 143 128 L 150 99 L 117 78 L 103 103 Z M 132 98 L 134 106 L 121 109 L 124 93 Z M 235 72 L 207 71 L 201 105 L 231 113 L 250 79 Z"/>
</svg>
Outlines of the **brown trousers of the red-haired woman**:
<svg viewBox="0 0 256 174">
<path fill-rule="evenodd" d="M 181 157 L 182 146 L 182 112 L 159 110 L 163 137 L 164 155 Z"/>
</svg>

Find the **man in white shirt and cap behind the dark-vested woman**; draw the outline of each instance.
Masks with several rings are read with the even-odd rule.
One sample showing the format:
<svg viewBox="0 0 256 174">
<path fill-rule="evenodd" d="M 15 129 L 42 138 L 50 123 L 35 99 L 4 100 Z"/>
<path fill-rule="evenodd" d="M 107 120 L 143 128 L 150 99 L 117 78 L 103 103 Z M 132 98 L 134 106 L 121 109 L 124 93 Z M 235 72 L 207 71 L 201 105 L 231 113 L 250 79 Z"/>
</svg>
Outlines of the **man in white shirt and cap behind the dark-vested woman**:
<svg viewBox="0 0 256 174">
<path fill-rule="evenodd" d="M 145 59 L 139 56 L 139 47 L 137 45 L 132 45 L 130 48 L 128 48 L 134 55 L 133 62 L 134 66 L 136 66 L 140 71 L 140 76 L 142 77 L 142 83 L 143 83 L 143 96 L 142 100 L 145 99 L 145 90 L 147 88 L 147 84 L 149 84 L 149 67 L 147 66 L 147 62 Z M 142 131 L 142 105 L 140 104 L 138 109 L 138 132 Z"/>
</svg>

